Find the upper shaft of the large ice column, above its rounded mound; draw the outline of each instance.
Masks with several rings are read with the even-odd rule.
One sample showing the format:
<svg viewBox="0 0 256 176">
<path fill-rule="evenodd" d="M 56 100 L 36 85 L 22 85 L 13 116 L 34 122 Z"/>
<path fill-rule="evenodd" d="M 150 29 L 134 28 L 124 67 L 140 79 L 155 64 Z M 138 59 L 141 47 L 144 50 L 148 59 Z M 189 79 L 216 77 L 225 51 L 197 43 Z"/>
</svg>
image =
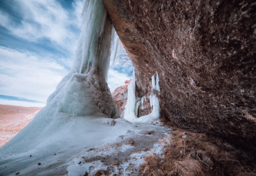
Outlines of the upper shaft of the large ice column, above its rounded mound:
<svg viewBox="0 0 256 176">
<path fill-rule="evenodd" d="M 106 20 L 107 11 L 102 0 L 87 0 L 82 16 L 82 32 L 75 53 L 73 70 L 79 73 L 96 70 L 107 80 L 113 34 L 111 34 L 111 22 Z"/>
</svg>

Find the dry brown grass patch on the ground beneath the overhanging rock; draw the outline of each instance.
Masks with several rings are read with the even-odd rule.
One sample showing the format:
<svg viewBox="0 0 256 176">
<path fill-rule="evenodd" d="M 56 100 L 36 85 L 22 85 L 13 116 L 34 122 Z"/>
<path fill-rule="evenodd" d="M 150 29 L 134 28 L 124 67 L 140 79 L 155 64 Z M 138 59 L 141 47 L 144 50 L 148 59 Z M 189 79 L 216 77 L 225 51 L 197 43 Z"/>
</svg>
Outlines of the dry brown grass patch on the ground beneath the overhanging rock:
<svg viewBox="0 0 256 176">
<path fill-rule="evenodd" d="M 187 138 L 183 138 L 186 135 Z M 248 157 L 240 150 L 199 133 L 174 130 L 165 157 L 149 155 L 140 166 L 141 175 L 256 175 L 256 164 L 241 162 Z"/>
</svg>

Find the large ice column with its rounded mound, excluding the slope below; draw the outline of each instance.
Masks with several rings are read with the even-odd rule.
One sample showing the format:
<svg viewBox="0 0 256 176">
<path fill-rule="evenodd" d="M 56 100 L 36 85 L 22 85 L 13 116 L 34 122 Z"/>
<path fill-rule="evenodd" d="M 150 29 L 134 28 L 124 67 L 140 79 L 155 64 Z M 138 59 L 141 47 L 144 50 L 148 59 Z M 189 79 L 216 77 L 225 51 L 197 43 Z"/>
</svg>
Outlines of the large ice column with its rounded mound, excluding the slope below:
<svg viewBox="0 0 256 176">
<path fill-rule="evenodd" d="M 113 26 L 102 0 L 88 0 L 82 13 L 82 32 L 73 68 L 48 98 L 48 106 L 71 115 L 102 113 L 118 117 L 107 86 Z"/>
</svg>

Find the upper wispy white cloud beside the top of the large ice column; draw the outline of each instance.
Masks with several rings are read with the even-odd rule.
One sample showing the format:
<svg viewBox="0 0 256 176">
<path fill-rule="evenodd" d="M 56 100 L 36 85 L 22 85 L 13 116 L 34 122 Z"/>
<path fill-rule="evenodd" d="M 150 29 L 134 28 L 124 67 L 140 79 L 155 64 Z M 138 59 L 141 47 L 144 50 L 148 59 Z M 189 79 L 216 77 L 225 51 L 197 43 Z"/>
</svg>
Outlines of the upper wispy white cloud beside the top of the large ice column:
<svg viewBox="0 0 256 176">
<path fill-rule="evenodd" d="M 73 10 L 62 8 L 56 0 L 16 0 L 13 6 L 21 14 L 20 24 L 15 23 L 8 14 L 0 12 L 0 25 L 13 35 L 29 41 L 48 39 L 69 52 L 75 51 L 82 0 L 73 3 Z"/>
</svg>

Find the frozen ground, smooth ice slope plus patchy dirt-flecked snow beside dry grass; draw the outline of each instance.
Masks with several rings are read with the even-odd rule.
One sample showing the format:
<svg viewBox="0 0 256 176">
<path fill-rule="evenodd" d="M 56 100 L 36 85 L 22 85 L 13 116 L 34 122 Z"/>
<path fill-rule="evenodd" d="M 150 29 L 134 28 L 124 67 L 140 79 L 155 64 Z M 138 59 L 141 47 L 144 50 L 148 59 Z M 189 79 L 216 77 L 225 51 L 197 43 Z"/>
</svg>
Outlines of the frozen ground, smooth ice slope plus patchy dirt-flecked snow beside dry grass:
<svg viewBox="0 0 256 176">
<path fill-rule="evenodd" d="M 121 118 L 64 113 L 56 121 L 64 124 L 49 124 L 55 133 L 37 128 L 35 134 L 20 138 L 19 146 L 3 146 L 0 175 L 95 175 L 98 170 L 105 170 L 105 175 L 137 175 L 143 158 L 161 155 L 163 145 L 170 142 L 171 129 L 158 121 L 135 125 Z"/>
</svg>

